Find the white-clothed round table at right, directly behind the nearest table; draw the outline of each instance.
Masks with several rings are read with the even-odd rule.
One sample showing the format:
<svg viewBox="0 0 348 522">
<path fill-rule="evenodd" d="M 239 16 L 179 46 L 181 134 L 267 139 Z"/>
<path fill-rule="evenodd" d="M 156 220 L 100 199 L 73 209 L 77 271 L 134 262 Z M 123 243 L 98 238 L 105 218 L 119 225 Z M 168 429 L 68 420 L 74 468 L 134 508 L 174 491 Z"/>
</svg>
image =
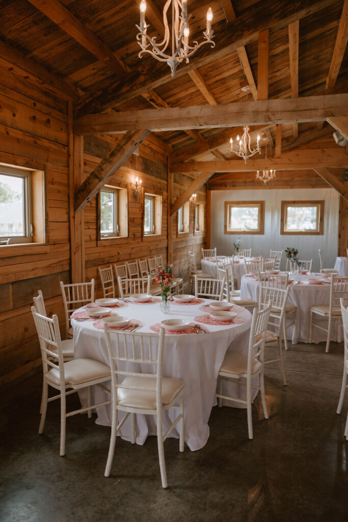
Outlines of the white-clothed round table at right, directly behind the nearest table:
<svg viewBox="0 0 348 522">
<path fill-rule="evenodd" d="M 280 272 L 286 274 L 286 272 Z M 315 278 L 325 280 L 322 284 L 309 284 L 308 278 Z M 293 345 L 297 342 L 309 342 L 309 321 L 310 321 L 310 307 L 320 304 L 329 304 L 330 301 L 330 276 L 323 274 L 303 274 L 297 276 L 298 283 L 294 284 L 292 280 L 290 283 L 290 292 L 287 304 L 296 305 L 296 321 L 295 325 L 288 328 L 287 339 L 291 339 Z M 259 301 L 260 283 L 256 276 L 245 275 L 242 277 L 241 295 Z M 290 315 L 292 317 L 292 314 Z M 317 318 L 317 317 L 316 317 Z M 292 318 L 287 319 L 287 322 L 292 322 Z M 326 323 L 326 324 L 324 324 Z M 323 321 L 323 327 L 327 327 L 327 322 Z M 339 328 L 340 336 L 340 328 Z M 326 341 L 327 333 L 319 328 L 313 328 L 313 342 Z M 334 321 L 332 322 L 331 339 L 334 339 Z M 339 338 L 340 340 L 340 338 Z"/>
</svg>

